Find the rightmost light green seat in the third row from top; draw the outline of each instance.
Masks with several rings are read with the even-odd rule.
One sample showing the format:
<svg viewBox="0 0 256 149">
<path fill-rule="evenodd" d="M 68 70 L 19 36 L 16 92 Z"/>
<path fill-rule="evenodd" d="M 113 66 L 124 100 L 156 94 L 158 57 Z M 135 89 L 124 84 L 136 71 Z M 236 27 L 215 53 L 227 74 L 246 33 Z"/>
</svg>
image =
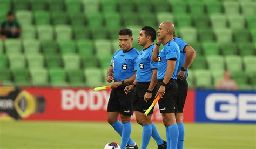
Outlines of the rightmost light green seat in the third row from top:
<svg viewBox="0 0 256 149">
<path fill-rule="evenodd" d="M 232 43 L 233 42 L 231 29 L 220 28 L 220 29 L 215 29 L 214 32 L 215 32 L 218 43 L 228 43 L 228 42 Z"/>
</svg>

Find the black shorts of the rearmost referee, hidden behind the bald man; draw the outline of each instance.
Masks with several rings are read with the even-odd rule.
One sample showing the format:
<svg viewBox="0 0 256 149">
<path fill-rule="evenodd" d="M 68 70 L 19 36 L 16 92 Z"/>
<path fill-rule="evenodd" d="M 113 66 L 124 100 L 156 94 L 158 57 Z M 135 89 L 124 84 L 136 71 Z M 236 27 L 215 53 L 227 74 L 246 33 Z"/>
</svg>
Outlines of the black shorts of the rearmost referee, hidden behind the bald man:
<svg viewBox="0 0 256 149">
<path fill-rule="evenodd" d="M 187 98 L 188 84 L 186 79 L 184 80 L 177 79 L 176 82 L 178 85 L 178 91 L 177 91 L 177 100 L 175 104 L 175 112 L 183 113 L 183 108 Z"/>
</svg>

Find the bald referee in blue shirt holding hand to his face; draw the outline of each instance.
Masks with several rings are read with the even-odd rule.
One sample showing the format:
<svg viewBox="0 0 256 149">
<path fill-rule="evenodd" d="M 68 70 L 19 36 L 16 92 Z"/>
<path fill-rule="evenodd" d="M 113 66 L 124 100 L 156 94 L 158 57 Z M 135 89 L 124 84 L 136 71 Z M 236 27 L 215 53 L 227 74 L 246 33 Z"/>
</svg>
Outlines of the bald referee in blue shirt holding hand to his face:
<svg viewBox="0 0 256 149">
<path fill-rule="evenodd" d="M 159 101 L 159 109 L 163 117 L 166 130 L 167 148 L 177 148 L 179 136 L 175 119 L 175 102 L 178 90 L 176 83 L 177 70 L 180 59 L 179 46 L 173 40 L 174 25 L 172 22 L 163 22 L 157 31 L 158 38 L 152 53 L 152 61 L 158 62 L 157 70 L 157 94 L 162 97 Z M 160 44 L 164 48 L 159 52 Z"/>
</svg>

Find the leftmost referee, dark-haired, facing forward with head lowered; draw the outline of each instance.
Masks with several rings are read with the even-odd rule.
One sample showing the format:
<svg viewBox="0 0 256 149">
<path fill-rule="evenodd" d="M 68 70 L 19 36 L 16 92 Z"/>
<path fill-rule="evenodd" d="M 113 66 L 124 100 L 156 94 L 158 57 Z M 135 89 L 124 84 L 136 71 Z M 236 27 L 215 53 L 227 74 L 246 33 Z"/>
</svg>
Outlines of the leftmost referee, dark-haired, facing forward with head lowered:
<svg viewBox="0 0 256 149">
<path fill-rule="evenodd" d="M 131 115 L 133 109 L 131 105 L 132 93 L 126 95 L 124 89 L 136 78 L 136 59 L 139 51 L 132 46 L 132 31 L 122 29 L 119 31 L 120 50 L 114 53 L 109 70 L 107 70 L 107 82 L 114 83 L 111 85 L 109 103 L 107 105 L 107 121 L 117 131 L 121 140 L 121 148 L 124 149 L 126 144 L 138 148 L 137 144 L 130 139 L 131 135 Z M 121 115 L 122 123 L 117 119 Z"/>
</svg>

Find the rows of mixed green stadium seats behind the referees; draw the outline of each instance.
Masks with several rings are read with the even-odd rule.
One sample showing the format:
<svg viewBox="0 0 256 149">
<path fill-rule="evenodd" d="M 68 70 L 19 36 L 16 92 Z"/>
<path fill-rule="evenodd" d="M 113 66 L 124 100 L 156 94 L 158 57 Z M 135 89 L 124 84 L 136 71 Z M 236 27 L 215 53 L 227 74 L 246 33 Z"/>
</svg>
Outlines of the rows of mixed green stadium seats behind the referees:
<svg viewBox="0 0 256 149">
<path fill-rule="evenodd" d="M 251 0 L 3 0 L 0 21 L 11 8 L 22 32 L 21 39 L 0 42 L 0 79 L 4 85 L 93 86 L 88 76 L 101 76 L 97 82 L 107 84 L 102 77 L 120 49 L 120 29 L 131 29 L 133 46 L 141 50 L 143 26 L 158 30 L 172 21 L 176 36 L 197 52 L 190 87 L 212 88 L 228 69 L 239 89 L 255 90 L 255 6 Z M 43 72 L 43 81 L 32 72 Z M 198 79 L 204 73 L 205 82 Z"/>
</svg>

